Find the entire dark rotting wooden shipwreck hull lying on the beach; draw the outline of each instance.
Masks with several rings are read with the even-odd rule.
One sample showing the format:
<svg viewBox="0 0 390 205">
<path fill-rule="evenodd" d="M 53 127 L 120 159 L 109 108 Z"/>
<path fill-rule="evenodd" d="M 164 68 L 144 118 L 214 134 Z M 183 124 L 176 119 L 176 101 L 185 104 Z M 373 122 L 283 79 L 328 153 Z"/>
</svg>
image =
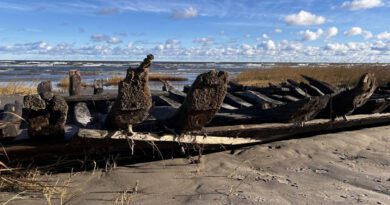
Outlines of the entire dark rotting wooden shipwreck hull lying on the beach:
<svg viewBox="0 0 390 205">
<path fill-rule="evenodd" d="M 149 67 L 142 66 L 150 66 L 151 60 L 148 56 L 137 68 L 138 71 L 147 72 Z M 287 80 L 280 85 L 258 88 L 228 82 L 226 72 L 210 71 L 198 76 L 194 84 L 186 89 L 186 93 L 174 90 L 164 82 L 164 91 L 153 91 L 151 95 L 144 96 L 148 103 L 143 109 L 149 110 L 149 102 L 153 104 L 150 115 L 147 118 L 141 116 L 146 118 L 144 121 L 135 120 L 138 124 L 129 124 L 128 130 L 108 130 L 112 127 L 105 125 L 112 104 L 127 103 L 125 111 L 128 113 L 128 110 L 133 109 L 130 101 L 118 102 L 124 98 L 104 93 L 102 86 L 99 92 L 94 92 L 95 95 L 83 96 L 72 92 L 72 96 L 64 98 L 69 112 L 67 117 L 61 119 L 66 119 L 66 126 L 58 127 L 57 118 L 50 118 L 53 113 L 44 113 L 42 117 L 34 115 L 35 118 L 47 119 L 47 136 L 50 136 L 52 126 L 64 129 L 64 132 L 66 127 L 74 128 L 74 132 L 66 131 L 64 140 L 50 137 L 20 140 L 20 136 L 6 140 L 4 136 L 12 135 L 6 133 L 7 130 L 12 128 L 12 133 L 16 133 L 15 124 L 22 124 L 23 127 L 19 118 L 12 117 L 12 113 L 20 113 L 20 109 L 13 108 L 20 107 L 20 103 L 15 103 L 6 106 L 7 110 L 3 113 L 3 124 L 0 127 L 3 131 L 3 138 L 0 138 L 3 149 L 0 151 L 0 160 L 7 162 L 104 153 L 145 156 L 180 152 L 183 149 L 225 150 L 318 133 L 390 124 L 390 88 L 377 88 L 373 75 L 362 76 L 356 87 L 349 90 L 339 90 L 308 76 L 304 78 L 307 82 Z M 137 78 L 131 78 L 134 79 Z M 145 83 L 132 83 L 141 86 L 138 90 L 147 89 L 142 87 L 147 86 Z M 119 92 L 127 95 L 133 91 Z M 42 93 L 46 96 L 50 94 L 50 89 Z M 42 96 L 34 96 L 32 99 L 36 98 L 37 101 L 29 101 L 29 107 L 40 105 L 37 102 L 43 102 L 40 100 Z M 50 102 L 47 100 L 48 105 Z M 118 109 L 117 112 L 121 114 L 122 111 Z M 127 118 L 131 119 L 132 116 L 128 115 Z M 121 123 L 120 127 L 125 127 L 123 125 L 126 124 Z M 26 133 L 26 130 L 22 133 Z"/>
</svg>

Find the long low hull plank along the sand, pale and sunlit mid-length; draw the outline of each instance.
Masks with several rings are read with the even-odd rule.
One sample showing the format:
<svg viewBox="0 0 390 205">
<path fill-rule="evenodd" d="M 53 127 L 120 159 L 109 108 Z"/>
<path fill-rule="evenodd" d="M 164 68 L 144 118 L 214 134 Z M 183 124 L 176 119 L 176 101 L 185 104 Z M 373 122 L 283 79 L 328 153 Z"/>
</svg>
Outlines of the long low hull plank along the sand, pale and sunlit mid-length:
<svg viewBox="0 0 390 205">
<path fill-rule="evenodd" d="M 131 136 L 123 135 L 120 132 L 81 129 L 78 134 L 79 137 L 70 141 L 56 140 L 50 142 L 26 142 L 22 144 L 5 145 L 4 149 L 0 149 L 0 160 L 3 161 L 9 158 L 11 161 L 17 161 L 36 159 L 37 157 L 43 157 L 43 159 L 46 159 L 48 156 L 67 155 L 85 156 L 86 153 L 105 154 L 109 152 L 117 152 L 121 149 L 125 149 L 126 153 L 129 154 L 129 151 L 131 151 L 128 144 L 129 139 L 130 142 L 135 142 L 132 143 L 134 144 L 132 149 L 134 154 L 137 154 L 138 152 L 144 153 L 147 149 L 155 150 L 156 147 L 158 147 L 160 151 L 173 149 L 179 150 L 180 144 L 185 144 L 184 142 L 188 142 L 188 145 L 202 145 L 202 147 L 206 149 L 214 148 L 217 150 L 226 150 L 230 148 L 230 146 L 222 147 L 220 144 L 227 145 L 228 142 L 232 142 L 236 143 L 237 146 L 245 146 L 270 141 L 292 139 L 296 137 L 308 137 L 318 133 L 327 133 L 345 129 L 361 129 L 368 126 L 388 124 L 390 124 L 390 113 L 352 115 L 348 121 L 316 119 L 306 122 L 304 126 L 297 126 L 294 123 L 264 123 L 254 125 L 205 127 L 203 132 L 207 136 L 203 134 L 191 134 L 186 135 L 184 138 L 169 134 L 161 137 L 161 135 L 140 133 L 142 135 L 137 135 L 137 138 L 133 138 L 133 140 L 131 140 Z M 111 136 L 115 137 L 112 138 Z M 210 138 L 210 141 L 207 140 L 209 136 L 213 137 Z M 236 141 L 235 139 L 239 140 Z M 152 140 L 153 143 L 149 140 Z M 242 144 L 238 144 L 238 142 L 242 142 Z"/>
</svg>

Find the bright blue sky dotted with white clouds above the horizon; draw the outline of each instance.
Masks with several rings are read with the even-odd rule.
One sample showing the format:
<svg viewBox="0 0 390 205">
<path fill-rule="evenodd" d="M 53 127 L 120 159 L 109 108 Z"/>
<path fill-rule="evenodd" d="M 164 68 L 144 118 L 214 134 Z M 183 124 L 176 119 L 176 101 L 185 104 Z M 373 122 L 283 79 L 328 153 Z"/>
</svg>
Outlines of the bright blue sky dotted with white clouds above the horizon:
<svg viewBox="0 0 390 205">
<path fill-rule="evenodd" d="M 389 0 L 0 0 L 0 59 L 390 62 Z"/>
</svg>

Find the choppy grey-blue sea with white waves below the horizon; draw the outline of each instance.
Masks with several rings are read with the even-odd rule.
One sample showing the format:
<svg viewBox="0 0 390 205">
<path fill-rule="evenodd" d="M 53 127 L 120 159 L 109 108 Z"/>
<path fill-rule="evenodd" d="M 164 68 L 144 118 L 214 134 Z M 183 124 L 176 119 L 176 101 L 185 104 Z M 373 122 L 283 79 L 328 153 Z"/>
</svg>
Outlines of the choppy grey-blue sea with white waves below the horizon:
<svg viewBox="0 0 390 205">
<path fill-rule="evenodd" d="M 113 76 L 125 76 L 129 67 L 136 68 L 140 62 L 135 61 L 0 61 L 0 86 L 9 83 L 34 85 L 41 81 L 51 80 L 57 84 L 68 76 L 69 70 L 81 72 L 84 82 L 91 84 L 94 79 L 109 79 Z M 153 62 L 152 73 L 168 74 L 187 78 L 172 84 L 181 89 L 190 85 L 200 73 L 212 69 L 224 70 L 234 78 L 248 69 L 272 69 L 283 64 L 291 67 L 310 66 L 313 63 L 272 63 L 272 62 Z M 319 67 L 327 67 L 326 63 L 315 63 Z M 152 89 L 161 89 L 161 83 L 151 82 Z M 108 89 L 116 89 L 108 87 Z"/>
</svg>

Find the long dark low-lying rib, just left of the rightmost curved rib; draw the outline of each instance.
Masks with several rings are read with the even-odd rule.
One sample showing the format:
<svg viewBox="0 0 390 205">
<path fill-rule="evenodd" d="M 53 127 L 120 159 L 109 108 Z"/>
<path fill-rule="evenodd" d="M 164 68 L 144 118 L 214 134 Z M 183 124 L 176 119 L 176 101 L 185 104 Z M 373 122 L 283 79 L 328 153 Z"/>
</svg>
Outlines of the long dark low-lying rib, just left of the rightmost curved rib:
<svg viewBox="0 0 390 205">
<path fill-rule="evenodd" d="M 270 122 L 303 123 L 314 119 L 323 110 L 330 96 L 305 98 L 275 108 L 261 109 L 259 106 L 225 111 L 215 116 L 210 125 L 257 124 Z"/>
</svg>

